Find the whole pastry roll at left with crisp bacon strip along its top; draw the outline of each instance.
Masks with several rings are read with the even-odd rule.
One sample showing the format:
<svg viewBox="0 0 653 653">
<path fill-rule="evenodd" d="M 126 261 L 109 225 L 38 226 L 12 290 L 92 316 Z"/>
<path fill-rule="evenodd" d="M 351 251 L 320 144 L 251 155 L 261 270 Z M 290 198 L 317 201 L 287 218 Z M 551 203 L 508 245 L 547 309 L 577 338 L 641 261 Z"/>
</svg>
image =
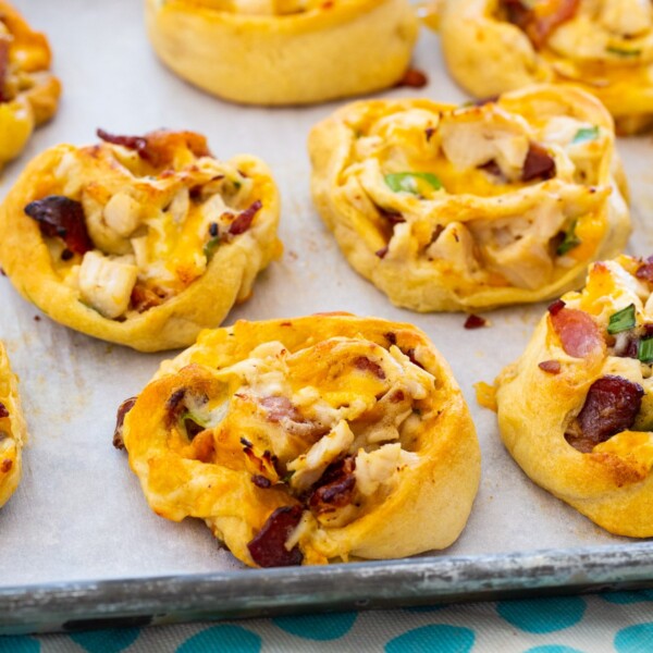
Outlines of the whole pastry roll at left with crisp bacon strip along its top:
<svg viewBox="0 0 653 653">
<path fill-rule="evenodd" d="M 152 132 L 60 145 L 0 207 L 0 260 L 53 320 L 143 352 L 218 325 L 281 254 L 263 162 L 213 158 L 204 136 Z"/>
</svg>

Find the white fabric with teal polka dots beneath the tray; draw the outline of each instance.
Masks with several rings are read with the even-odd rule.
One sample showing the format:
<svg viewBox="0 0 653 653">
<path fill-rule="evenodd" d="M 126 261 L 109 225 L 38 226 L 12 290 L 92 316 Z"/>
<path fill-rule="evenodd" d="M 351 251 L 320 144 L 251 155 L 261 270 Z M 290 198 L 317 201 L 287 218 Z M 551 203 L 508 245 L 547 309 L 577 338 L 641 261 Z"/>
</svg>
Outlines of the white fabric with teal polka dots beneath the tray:
<svg viewBox="0 0 653 653">
<path fill-rule="evenodd" d="M 653 590 L 0 637 L 0 653 L 653 653 Z"/>
</svg>

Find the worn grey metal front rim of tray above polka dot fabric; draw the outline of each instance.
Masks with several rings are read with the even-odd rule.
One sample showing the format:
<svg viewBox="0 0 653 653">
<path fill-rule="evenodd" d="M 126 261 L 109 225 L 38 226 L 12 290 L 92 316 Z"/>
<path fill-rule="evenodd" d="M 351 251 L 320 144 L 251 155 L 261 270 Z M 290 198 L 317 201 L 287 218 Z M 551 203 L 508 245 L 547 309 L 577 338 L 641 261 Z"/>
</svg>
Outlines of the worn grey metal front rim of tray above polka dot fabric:
<svg viewBox="0 0 653 653">
<path fill-rule="evenodd" d="M 0 634 L 653 587 L 653 542 L 0 588 Z"/>
</svg>

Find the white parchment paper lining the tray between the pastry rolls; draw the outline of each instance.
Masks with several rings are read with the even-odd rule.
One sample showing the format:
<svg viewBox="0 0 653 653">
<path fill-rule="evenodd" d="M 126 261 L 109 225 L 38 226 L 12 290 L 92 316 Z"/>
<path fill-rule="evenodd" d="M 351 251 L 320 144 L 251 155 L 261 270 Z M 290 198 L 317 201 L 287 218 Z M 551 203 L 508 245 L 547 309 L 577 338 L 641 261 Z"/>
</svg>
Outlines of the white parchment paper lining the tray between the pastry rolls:
<svg viewBox="0 0 653 653">
<path fill-rule="evenodd" d="M 2 196 L 30 157 L 61 141 L 91 143 L 97 127 L 121 134 L 161 126 L 190 128 L 206 134 L 212 151 L 221 158 L 238 152 L 261 157 L 271 167 L 282 194 L 280 236 L 285 255 L 260 275 L 254 297 L 232 311 L 225 323 L 239 318 L 348 310 L 409 321 L 431 336 L 463 387 L 483 456 L 481 486 L 469 523 L 458 542 L 436 554 L 432 564 L 449 564 L 447 556 L 472 556 L 470 564 L 478 566 L 485 560 L 483 568 L 492 575 L 505 568 L 503 563 L 508 558 L 479 556 L 518 553 L 526 556 L 519 559 L 532 564 L 544 559 L 533 554 L 542 549 L 554 550 L 551 555 L 556 558 L 556 551 L 600 545 L 620 545 L 614 550 L 618 554 L 628 552 L 623 547 L 631 547 L 639 559 L 646 556 L 646 547 L 632 549 L 633 541 L 609 535 L 532 484 L 504 451 L 494 414 L 476 403 L 472 384 L 491 382 L 519 355 L 544 305 L 488 313 L 490 328 L 466 331 L 461 315 L 424 316 L 393 307 L 348 267 L 312 208 L 306 152 L 310 127 L 340 102 L 303 109 L 245 108 L 195 89 L 156 59 L 137 0 L 20 0 L 15 4 L 34 27 L 47 32 L 63 96 L 56 120 L 39 130 L 24 156 L 5 169 Z M 444 70 L 436 36 L 426 28 L 415 65 L 429 76 L 426 88 L 393 89 L 381 97 L 466 99 Z M 653 230 L 646 224 L 653 210 L 653 172 L 646 165 L 652 148 L 650 137 L 619 141 L 632 192 L 631 251 L 642 255 L 653 254 Z M 173 523 L 151 513 L 125 454 L 111 445 L 118 405 L 137 394 L 160 361 L 174 353 L 139 354 L 70 331 L 21 299 L 7 279 L 0 279 L 0 338 L 21 378 L 30 432 L 23 481 L 0 512 L 0 593 L 10 599 L 22 596 L 12 604 L 14 609 L 26 605 L 29 592 L 21 590 L 26 586 L 243 569 L 217 545 L 201 522 Z M 559 554 L 556 559 L 570 558 Z M 414 563 L 418 564 L 423 560 Z M 402 566 L 409 576 L 417 569 L 410 565 Z M 508 582 L 506 587 L 520 582 L 519 570 L 526 566 L 513 565 L 512 586 Z M 646 571 L 626 567 L 631 574 L 625 578 L 642 580 L 650 576 L 648 567 Z M 350 568 L 365 571 L 386 569 L 387 565 Z M 247 574 L 255 579 L 269 572 Z M 313 581 L 323 578 L 313 576 Z M 306 579 L 308 582 L 308 575 Z M 599 577 L 596 582 L 601 582 Z M 65 587 L 72 588 L 62 587 L 63 594 Z M 128 587 L 134 596 L 146 586 Z M 308 587 L 303 590 L 307 595 Z"/>
</svg>

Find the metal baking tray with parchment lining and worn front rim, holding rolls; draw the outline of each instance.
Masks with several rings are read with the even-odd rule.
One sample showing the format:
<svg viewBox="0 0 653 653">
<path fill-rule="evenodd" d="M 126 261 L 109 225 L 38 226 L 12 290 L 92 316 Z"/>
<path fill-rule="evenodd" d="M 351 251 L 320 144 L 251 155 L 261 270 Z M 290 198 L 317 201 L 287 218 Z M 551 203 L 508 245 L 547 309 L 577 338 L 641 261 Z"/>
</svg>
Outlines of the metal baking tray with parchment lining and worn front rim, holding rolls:
<svg viewBox="0 0 653 653">
<path fill-rule="evenodd" d="M 140 2 L 20 0 L 50 37 L 63 83 L 60 111 L 0 180 L 61 141 L 95 140 L 97 127 L 140 134 L 168 126 L 209 137 L 223 158 L 250 152 L 271 167 L 282 194 L 285 255 L 258 280 L 227 323 L 348 310 L 414 322 L 452 365 L 477 424 L 483 455 L 469 523 L 433 555 L 325 568 L 245 569 L 198 521 L 172 523 L 146 505 L 126 456 L 113 449 L 115 408 L 172 354 L 145 355 L 51 322 L 0 279 L 0 338 L 21 392 L 30 443 L 23 481 L 0 512 L 0 632 L 234 618 L 289 612 L 389 607 L 497 596 L 653 584 L 653 550 L 616 538 L 531 483 L 501 444 L 495 416 L 473 383 L 492 381 L 526 345 L 543 305 L 486 313 L 492 325 L 463 329 L 461 315 L 393 307 L 360 279 L 322 225 L 309 197 L 306 138 L 340 103 L 261 109 L 222 102 L 185 84 L 156 59 Z M 415 65 L 429 84 L 382 97 L 464 101 L 448 78 L 438 37 L 422 29 Z M 621 139 L 632 192 L 636 254 L 653 254 L 650 137 Z"/>
</svg>

